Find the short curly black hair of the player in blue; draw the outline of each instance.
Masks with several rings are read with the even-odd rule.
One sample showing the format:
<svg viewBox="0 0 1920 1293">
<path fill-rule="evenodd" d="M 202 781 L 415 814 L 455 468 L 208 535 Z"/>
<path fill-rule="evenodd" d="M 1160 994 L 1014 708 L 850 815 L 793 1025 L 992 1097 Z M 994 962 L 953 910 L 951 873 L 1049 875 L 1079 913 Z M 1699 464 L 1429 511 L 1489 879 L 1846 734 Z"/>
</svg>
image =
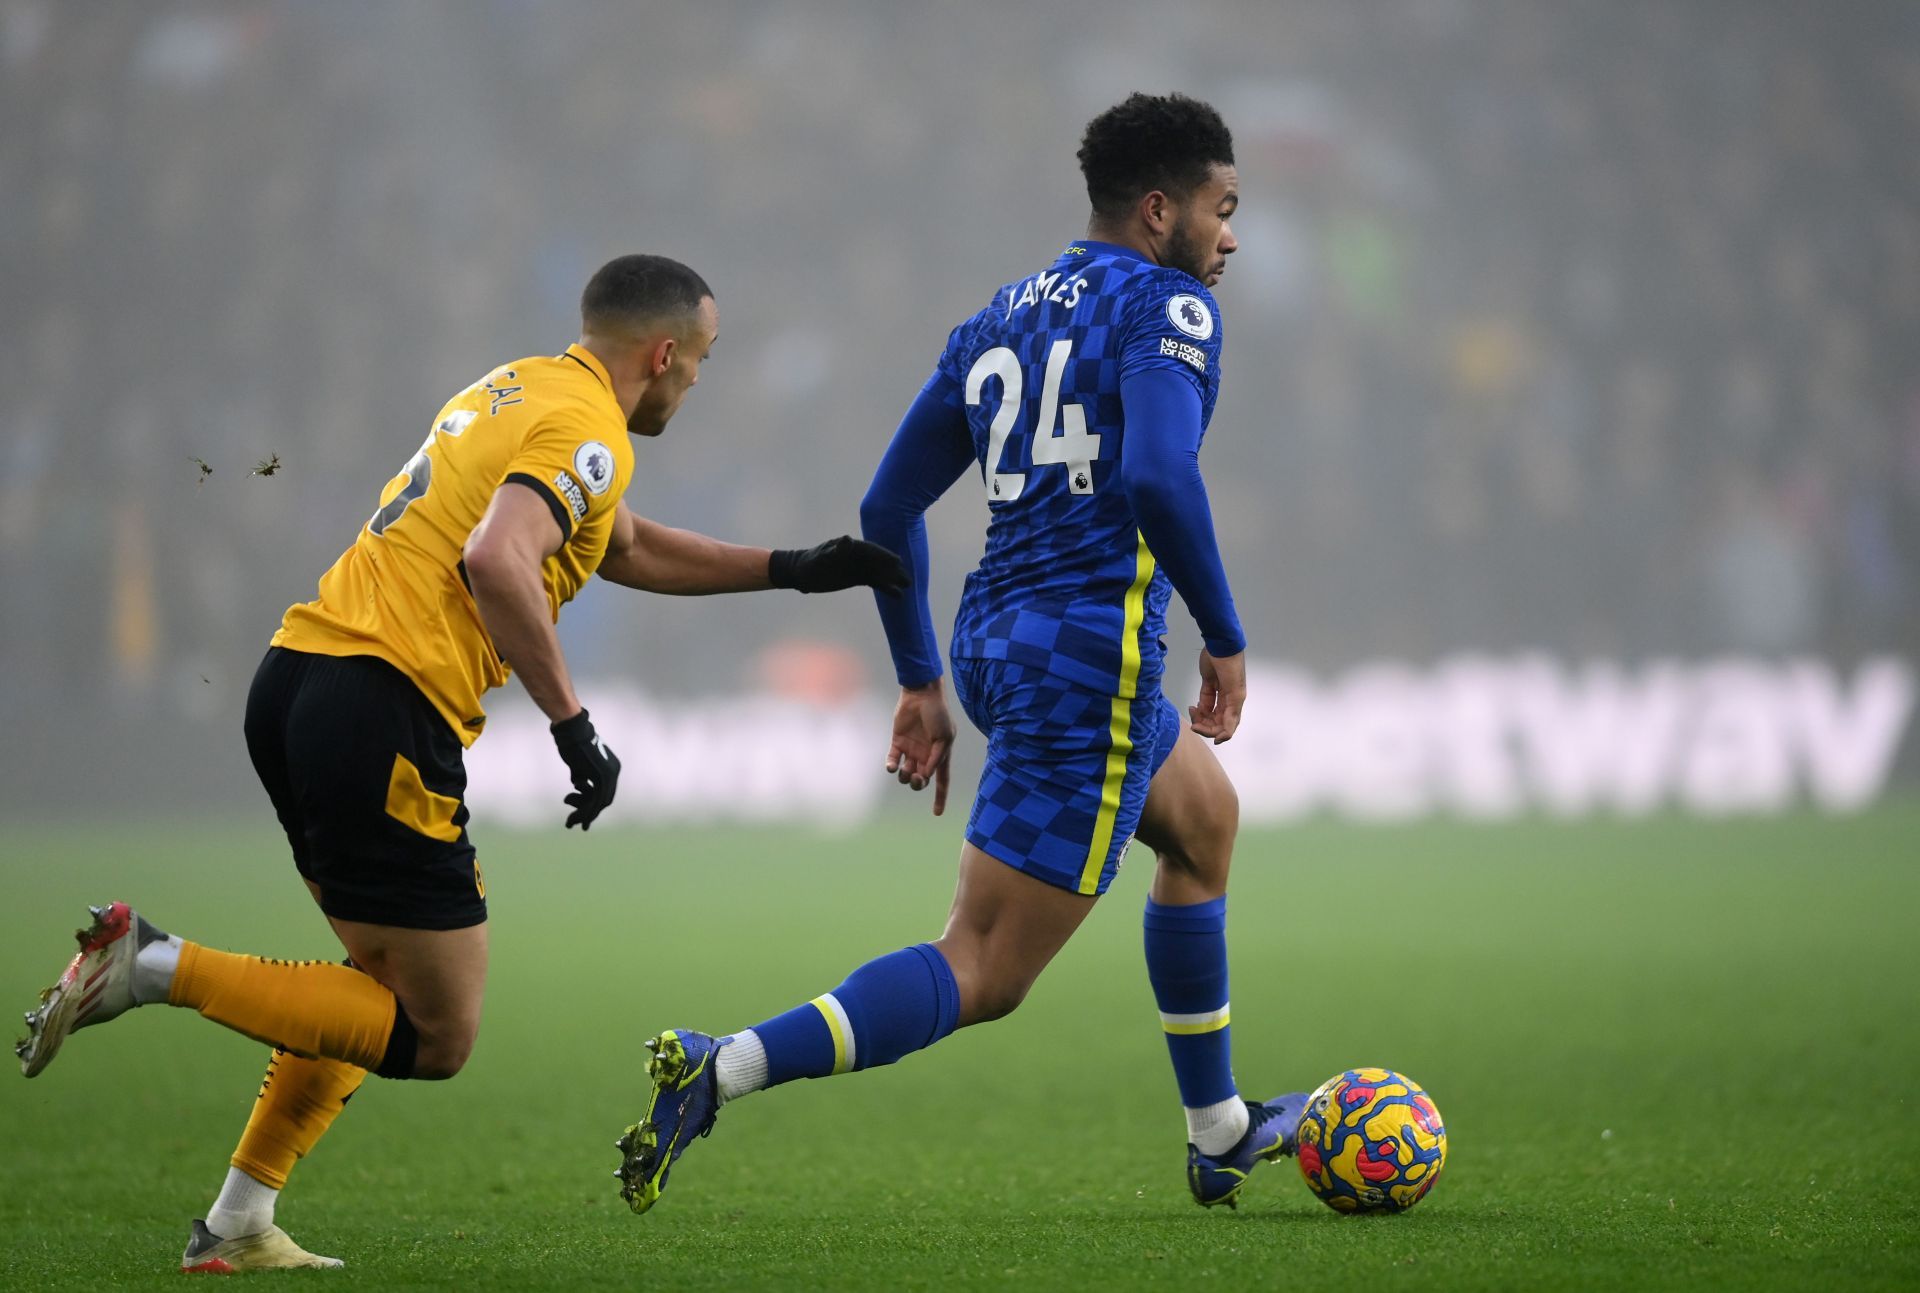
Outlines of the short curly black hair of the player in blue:
<svg viewBox="0 0 1920 1293">
<path fill-rule="evenodd" d="M 1094 215 L 1119 217 L 1156 188 L 1185 198 L 1213 165 L 1233 165 L 1233 131 L 1185 94 L 1129 94 L 1087 123 L 1081 175 Z"/>
</svg>

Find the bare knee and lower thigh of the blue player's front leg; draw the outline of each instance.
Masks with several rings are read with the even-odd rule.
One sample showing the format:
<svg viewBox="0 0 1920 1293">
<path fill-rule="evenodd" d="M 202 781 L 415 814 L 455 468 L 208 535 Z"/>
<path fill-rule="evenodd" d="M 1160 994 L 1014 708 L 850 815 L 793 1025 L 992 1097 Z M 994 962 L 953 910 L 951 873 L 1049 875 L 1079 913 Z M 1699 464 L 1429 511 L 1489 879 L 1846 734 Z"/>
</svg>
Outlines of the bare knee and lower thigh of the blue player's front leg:
<svg viewBox="0 0 1920 1293">
<path fill-rule="evenodd" d="M 1156 903 L 1183 907 L 1227 891 L 1240 797 L 1213 745 L 1181 724 L 1173 751 L 1146 788 L 1137 838 L 1158 859 Z"/>
</svg>

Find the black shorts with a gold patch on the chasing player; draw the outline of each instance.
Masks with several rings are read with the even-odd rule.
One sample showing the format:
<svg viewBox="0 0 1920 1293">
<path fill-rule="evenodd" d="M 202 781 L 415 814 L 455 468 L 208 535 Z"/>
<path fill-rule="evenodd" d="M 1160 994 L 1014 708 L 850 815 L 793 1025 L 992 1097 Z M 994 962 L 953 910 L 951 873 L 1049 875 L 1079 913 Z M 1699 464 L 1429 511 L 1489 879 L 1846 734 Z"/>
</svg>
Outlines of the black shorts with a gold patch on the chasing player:
<svg viewBox="0 0 1920 1293">
<path fill-rule="evenodd" d="M 407 674 L 371 655 L 271 647 L 246 697 L 246 747 L 328 916 L 486 920 L 461 738 Z"/>
</svg>

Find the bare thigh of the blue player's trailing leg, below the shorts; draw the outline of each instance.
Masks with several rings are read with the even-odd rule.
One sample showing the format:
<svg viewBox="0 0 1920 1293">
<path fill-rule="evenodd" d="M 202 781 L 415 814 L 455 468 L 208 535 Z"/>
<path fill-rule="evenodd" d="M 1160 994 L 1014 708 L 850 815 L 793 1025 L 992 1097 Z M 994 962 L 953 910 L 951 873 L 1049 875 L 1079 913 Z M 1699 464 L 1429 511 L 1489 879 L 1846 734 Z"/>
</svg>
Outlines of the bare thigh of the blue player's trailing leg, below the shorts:
<svg viewBox="0 0 1920 1293">
<path fill-rule="evenodd" d="M 1094 901 L 960 845 L 960 880 L 935 947 L 960 986 L 962 1026 L 1020 1005 Z"/>
</svg>

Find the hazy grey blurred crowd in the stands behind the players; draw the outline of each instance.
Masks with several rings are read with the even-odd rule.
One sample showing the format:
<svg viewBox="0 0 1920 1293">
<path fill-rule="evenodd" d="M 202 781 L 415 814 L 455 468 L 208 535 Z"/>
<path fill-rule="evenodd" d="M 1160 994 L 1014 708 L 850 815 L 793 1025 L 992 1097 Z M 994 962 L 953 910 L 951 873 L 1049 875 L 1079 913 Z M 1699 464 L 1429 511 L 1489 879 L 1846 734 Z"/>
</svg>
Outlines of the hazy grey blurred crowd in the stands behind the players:
<svg viewBox="0 0 1920 1293">
<path fill-rule="evenodd" d="M 851 528 L 1131 88 L 1236 133 L 1204 463 L 1256 651 L 1920 653 L 1899 0 L 0 0 L 4 713 L 225 722 L 440 402 L 628 250 L 722 309 L 634 505 Z M 935 511 L 943 619 L 981 521 Z M 651 688 L 776 638 L 887 678 L 820 598 L 589 592 L 566 634 Z"/>
</svg>

